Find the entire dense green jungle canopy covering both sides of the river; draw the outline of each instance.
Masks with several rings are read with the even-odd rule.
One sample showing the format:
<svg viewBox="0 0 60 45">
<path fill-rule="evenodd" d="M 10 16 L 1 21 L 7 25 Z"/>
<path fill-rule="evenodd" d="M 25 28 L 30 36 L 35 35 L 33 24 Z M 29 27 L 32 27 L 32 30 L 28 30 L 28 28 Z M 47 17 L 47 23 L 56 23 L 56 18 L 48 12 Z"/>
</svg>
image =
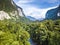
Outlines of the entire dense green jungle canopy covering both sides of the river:
<svg viewBox="0 0 60 45">
<path fill-rule="evenodd" d="M 29 24 L 9 20 L 0 21 L 0 45 L 60 45 L 60 19 Z"/>
</svg>

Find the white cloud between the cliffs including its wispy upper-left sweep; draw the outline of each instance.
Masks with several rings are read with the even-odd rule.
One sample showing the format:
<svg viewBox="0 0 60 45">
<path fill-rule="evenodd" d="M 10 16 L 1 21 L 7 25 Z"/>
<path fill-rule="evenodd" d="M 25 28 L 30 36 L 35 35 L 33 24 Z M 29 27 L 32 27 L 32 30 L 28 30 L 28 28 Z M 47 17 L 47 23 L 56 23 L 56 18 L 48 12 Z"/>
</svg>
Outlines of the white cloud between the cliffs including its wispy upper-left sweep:
<svg viewBox="0 0 60 45">
<path fill-rule="evenodd" d="M 33 2 L 33 0 L 20 0 L 17 2 L 17 5 L 23 8 L 23 11 L 26 16 L 32 16 L 32 17 L 35 17 L 36 19 L 45 18 L 45 14 L 48 10 L 52 8 L 56 8 L 56 7 L 51 7 L 47 9 L 40 9 L 40 8 L 37 8 L 36 6 L 25 4 L 29 2 Z"/>
</svg>

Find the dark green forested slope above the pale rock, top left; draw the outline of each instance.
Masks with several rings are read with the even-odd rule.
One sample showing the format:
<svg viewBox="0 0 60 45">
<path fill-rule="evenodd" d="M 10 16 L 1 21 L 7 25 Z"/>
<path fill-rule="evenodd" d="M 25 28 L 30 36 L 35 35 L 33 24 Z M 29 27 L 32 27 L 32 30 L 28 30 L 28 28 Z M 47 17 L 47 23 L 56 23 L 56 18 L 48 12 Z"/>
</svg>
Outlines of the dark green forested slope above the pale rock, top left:
<svg viewBox="0 0 60 45">
<path fill-rule="evenodd" d="M 12 11 L 16 10 L 16 6 L 12 5 L 12 0 L 0 0 L 0 10 Z"/>
</svg>

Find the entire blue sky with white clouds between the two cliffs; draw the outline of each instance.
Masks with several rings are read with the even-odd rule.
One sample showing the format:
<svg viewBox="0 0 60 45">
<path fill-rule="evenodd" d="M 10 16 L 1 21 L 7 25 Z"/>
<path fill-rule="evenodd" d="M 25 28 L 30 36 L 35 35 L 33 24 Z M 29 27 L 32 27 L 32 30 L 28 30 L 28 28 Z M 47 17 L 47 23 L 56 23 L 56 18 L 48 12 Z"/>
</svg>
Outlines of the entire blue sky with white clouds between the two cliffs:
<svg viewBox="0 0 60 45">
<path fill-rule="evenodd" d="M 23 8 L 26 16 L 31 16 L 36 19 L 45 18 L 48 10 L 56 8 L 59 0 L 14 0 L 14 2 Z"/>
</svg>

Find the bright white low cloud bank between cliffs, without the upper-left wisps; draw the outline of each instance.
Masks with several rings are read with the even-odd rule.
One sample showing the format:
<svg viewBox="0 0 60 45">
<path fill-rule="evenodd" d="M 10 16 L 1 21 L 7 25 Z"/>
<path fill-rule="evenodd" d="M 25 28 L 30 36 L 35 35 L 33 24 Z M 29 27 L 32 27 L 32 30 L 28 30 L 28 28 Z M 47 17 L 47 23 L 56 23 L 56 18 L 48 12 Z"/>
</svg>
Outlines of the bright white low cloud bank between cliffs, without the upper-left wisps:
<svg viewBox="0 0 60 45">
<path fill-rule="evenodd" d="M 52 7 L 52 8 L 56 8 L 56 7 Z M 35 17 L 36 19 L 45 18 L 46 12 L 52 8 L 40 9 L 37 7 L 29 6 L 24 8 L 24 13 L 26 14 L 26 16 L 32 16 Z"/>
</svg>

